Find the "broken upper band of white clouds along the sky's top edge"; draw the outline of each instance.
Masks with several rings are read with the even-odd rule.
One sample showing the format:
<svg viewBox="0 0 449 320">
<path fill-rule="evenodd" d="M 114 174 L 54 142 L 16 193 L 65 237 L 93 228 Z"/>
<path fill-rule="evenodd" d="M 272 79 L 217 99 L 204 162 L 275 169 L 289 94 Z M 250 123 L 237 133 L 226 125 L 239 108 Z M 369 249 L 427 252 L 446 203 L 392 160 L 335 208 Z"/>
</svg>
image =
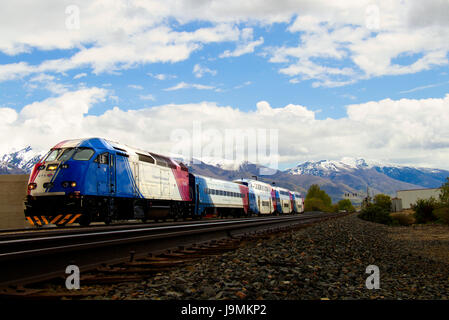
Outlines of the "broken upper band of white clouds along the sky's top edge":
<svg viewBox="0 0 449 320">
<path fill-rule="evenodd" d="M 65 24 L 65 9 L 71 4 L 50 0 L 2 4 L 0 51 L 16 55 L 35 49 L 71 49 L 75 53 L 36 65 L 2 65 L 0 81 L 79 67 L 99 74 L 141 64 L 174 63 L 211 43 L 234 42 L 235 49 L 220 56 L 237 57 L 264 43 L 263 37 L 253 40 L 253 29 L 248 26 L 279 22 L 289 24 L 287 29 L 298 43 L 266 48 L 265 54 L 270 62 L 282 64 L 281 73 L 313 80 L 314 86 L 341 86 L 449 63 L 449 2 L 445 0 L 426 1 L 426 5 L 401 0 L 374 4 L 372 0 L 80 0 L 75 4 L 80 9 L 80 28 L 75 30 Z M 368 10 L 371 7 L 378 10 Z M 376 12 L 379 15 L 373 16 Z M 182 32 L 172 27 L 193 21 L 209 26 Z M 396 62 L 406 55 L 413 59 Z"/>
</svg>

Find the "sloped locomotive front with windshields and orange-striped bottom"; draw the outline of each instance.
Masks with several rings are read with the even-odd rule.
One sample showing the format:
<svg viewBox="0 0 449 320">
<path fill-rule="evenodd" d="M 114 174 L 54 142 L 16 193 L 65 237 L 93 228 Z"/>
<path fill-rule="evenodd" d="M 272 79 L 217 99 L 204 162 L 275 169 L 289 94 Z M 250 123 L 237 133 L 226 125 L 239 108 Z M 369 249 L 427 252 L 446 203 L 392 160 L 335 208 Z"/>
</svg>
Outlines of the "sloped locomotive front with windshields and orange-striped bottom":
<svg viewBox="0 0 449 320">
<path fill-rule="evenodd" d="M 82 196 L 95 150 L 81 145 L 79 140 L 63 141 L 34 166 L 25 202 L 31 225 L 62 226 L 82 216 Z"/>
</svg>

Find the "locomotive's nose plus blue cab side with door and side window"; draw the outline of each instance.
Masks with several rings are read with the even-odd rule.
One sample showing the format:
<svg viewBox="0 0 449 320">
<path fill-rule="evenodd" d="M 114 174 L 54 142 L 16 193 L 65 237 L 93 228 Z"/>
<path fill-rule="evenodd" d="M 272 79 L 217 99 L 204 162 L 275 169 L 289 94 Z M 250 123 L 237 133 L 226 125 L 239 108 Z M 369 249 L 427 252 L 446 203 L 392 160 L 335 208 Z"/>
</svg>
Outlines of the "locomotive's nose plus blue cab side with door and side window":
<svg viewBox="0 0 449 320">
<path fill-rule="evenodd" d="M 64 141 L 34 166 L 25 202 L 30 224 L 90 223 L 92 214 L 86 207 L 92 199 L 86 196 L 115 191 L 115 170 L 111 169 L 115 158 L 102 149 L 77 140 Z"/>
</svg>

